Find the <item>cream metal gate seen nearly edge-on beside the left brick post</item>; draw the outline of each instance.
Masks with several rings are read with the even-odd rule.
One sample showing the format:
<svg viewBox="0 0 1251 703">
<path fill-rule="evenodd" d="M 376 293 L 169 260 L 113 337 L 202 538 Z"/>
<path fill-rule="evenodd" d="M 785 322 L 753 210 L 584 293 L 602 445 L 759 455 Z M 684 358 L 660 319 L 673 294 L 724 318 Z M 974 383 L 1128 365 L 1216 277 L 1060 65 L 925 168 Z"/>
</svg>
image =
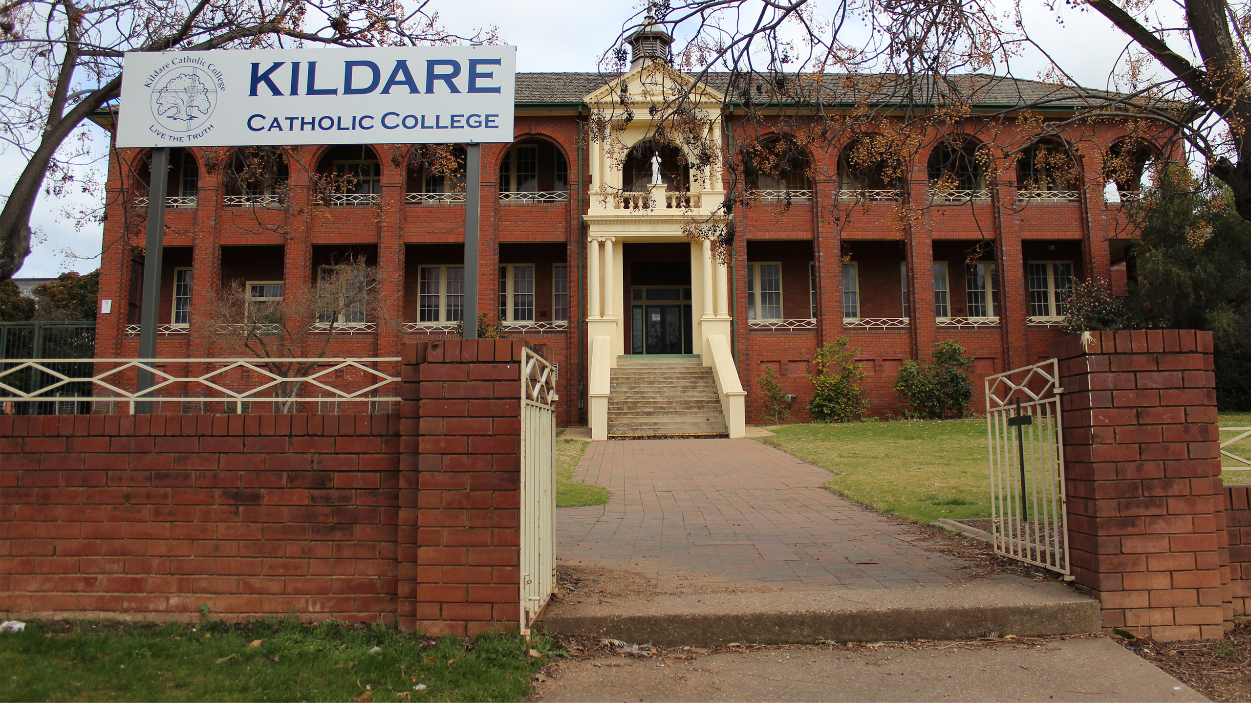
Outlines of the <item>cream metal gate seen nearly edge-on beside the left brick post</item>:
<svg viewBox="0 0 1251 703">
<path fill-rule="evenodd" d="M 555 368 L 522 350 L 520 627 L 529 637 L 555 575 Z"/>
</svg>

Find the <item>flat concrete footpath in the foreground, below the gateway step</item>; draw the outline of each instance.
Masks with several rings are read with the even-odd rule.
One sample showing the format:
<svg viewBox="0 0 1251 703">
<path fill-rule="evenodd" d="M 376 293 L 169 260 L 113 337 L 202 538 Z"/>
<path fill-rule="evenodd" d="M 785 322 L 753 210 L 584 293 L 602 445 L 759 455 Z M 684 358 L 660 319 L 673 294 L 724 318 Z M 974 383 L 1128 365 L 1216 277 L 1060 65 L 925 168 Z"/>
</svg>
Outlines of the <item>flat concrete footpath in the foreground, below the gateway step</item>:
<svg viewBox="0 0 1251 703">
<path fill-rule="evenodd" d="M 811 647 L 549 669 L 532 700 L 1207 700 L 1103 638 L 924 649 Z"/>
</svg>

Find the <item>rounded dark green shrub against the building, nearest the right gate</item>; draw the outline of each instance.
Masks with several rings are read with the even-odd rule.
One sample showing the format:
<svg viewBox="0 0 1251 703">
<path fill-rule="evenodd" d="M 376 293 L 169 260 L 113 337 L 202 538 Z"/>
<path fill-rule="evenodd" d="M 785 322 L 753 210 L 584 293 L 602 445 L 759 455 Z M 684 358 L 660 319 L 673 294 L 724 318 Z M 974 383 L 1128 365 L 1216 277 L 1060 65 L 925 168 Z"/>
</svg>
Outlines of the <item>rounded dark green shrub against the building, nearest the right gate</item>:
<svg viewBox="0 0 1251 703">
<path fill-rule="evenodd" d="M 894 392 L 907 418 L 963 418 L 973 403 L 973 382 L 968 372 L 973 358 L 955 339 L 934 345 L 933 360 L 926 365 L 908 359 L 899 367 Z"/>
</svg>

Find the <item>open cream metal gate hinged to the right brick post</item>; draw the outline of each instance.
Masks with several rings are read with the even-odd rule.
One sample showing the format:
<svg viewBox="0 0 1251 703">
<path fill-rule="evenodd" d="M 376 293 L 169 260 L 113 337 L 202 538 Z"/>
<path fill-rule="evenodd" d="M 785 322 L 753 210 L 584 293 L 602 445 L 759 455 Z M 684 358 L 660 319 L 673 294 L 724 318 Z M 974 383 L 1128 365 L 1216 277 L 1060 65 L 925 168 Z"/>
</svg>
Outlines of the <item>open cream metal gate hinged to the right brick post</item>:
<svg viewBox="0 0 1251 703">
<path fill-rule="evenodd" d="M 1067 577 L 1062 392 L 1056 359 L 986 378 L 995 550 Z"/>
</svg>

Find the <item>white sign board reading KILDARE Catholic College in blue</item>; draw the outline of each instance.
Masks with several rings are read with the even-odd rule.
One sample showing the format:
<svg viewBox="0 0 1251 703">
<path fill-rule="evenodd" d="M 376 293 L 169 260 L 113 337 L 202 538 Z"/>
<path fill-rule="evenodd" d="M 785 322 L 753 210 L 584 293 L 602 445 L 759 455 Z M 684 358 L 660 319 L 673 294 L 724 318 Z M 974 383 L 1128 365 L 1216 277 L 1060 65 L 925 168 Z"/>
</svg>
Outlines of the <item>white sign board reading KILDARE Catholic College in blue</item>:
<svg viewBox="0 0 1251 703">
<path fill-rule="evenodd" d="M 133 51 L 118 146 L 513 140 L 515 46 Z"/>
</svg>

